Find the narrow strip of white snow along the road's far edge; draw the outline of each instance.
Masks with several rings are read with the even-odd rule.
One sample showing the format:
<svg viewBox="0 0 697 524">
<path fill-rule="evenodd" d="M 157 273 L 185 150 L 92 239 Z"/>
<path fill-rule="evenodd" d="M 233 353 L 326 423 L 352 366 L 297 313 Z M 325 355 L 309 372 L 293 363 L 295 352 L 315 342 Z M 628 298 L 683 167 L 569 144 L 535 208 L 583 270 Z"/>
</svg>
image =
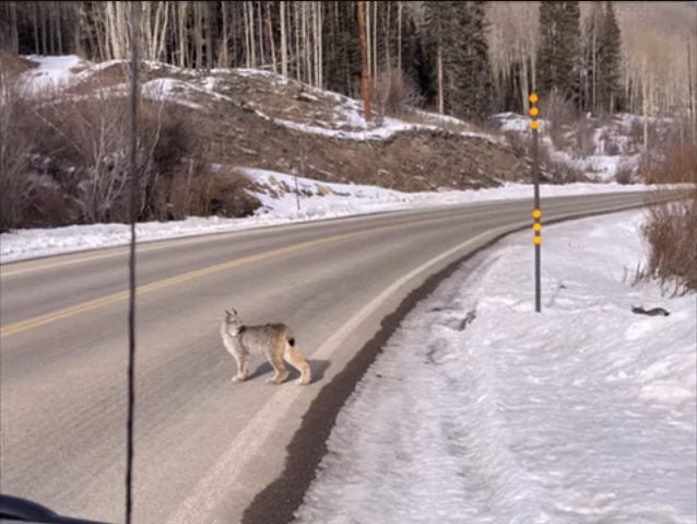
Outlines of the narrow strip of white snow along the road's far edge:
<svg viewBox="0 0 697 524">
<path fill-rule="evenodd" d="M 300 209 L 297 209 L 295 178 L 283 173 L 245 170 L 269 191 L 255 194 L 263 208 L 255 217 L 224 219 L 191 217 L 173 222 L 147 222 L 137 226 L 139 243 L 164 238 L 193 236 L 223 231 L 279 225 L 291 222 L 322 220 L 381 211 L 474 203 L 494 200 L 532 198 L 532 187 L 511 184 L 504 187 L 471 191 L 401 193 L 375 186 L 324 184 L 298 177 Z M 570 184 L 543 186 L 541 195 L 593 195 L 618 191 L 649 190 L 650 186 L 619 184 Z M 0 264 L 29 258 L 114 247 L 130 242 L 126 224 L 70 225 L 55 229 L 19 230 L 0 234 Z"/>
</svg>

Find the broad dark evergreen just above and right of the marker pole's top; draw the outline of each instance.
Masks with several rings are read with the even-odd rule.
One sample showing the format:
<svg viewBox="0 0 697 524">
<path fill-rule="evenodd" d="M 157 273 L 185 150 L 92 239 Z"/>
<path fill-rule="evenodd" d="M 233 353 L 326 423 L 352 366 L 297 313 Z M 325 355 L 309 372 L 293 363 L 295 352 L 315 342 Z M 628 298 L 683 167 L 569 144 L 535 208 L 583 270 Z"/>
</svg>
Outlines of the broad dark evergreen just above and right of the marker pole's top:
<svg viewBox="0 0 697 524">
<path fill-rule="evenodd" d="M 537 90 L 556 91 L 580 103 L 580 7 L 578 1 L 540 3 L 541 45 L 537 57 Z"/>
</svg>

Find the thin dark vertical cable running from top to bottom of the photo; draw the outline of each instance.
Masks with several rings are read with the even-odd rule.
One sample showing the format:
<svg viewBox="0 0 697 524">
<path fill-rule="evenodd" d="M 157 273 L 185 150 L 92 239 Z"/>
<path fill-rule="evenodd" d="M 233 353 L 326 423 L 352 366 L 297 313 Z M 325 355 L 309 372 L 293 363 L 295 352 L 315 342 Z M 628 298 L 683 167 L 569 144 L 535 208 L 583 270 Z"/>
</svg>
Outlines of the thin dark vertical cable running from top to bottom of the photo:
<svg viewBox="0 0 697 524">
<path fill-rule="evenodd" d="M 133 513 L 133 424 L 135 408 L 135 222 L 138 203 L 138 15 L 140 2 L 130 2 L 131 89 L 130 89 L 130 199 L 129 221 L 129 307 L 128 307 L 128 406 L 126 435 L 126 524 Z"/>
</svg>

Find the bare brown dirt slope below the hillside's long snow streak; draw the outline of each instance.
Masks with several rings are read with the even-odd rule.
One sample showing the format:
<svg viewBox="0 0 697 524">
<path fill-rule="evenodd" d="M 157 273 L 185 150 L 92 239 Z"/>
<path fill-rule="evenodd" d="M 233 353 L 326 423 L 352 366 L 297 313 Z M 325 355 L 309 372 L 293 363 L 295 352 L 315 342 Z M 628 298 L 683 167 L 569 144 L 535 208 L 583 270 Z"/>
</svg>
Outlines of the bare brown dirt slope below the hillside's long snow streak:
<svg viewBox="0 0 697 524">
<path fill-rule="evenodd" d="M 201 118 L 200 124 L 211 159 L 283 173 L 296 170 L 322 182 L 421 191 L 493 187 L 522 181 L 529 173 L 525 159 L 508 144 L 447 130 L 401 131 L 380 140 L 338 139 L 290 129 L 237 107 L 217 118 Z"/>
</svg>

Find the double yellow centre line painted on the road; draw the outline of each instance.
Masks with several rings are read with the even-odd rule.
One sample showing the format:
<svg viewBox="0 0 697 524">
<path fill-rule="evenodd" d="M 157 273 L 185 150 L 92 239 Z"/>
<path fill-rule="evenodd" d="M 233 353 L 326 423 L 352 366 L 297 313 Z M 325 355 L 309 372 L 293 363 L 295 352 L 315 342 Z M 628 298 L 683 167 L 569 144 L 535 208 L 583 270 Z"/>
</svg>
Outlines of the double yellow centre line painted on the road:
<svg viewBox="0 0 697 524">
<path fill-rule="evenodd" d="M 395 229 L 395 228 L 405 228 L 405 225 L 399 225 L 399 226 L 388 226 L 388 228 L 381 228 L 380 230 L 385 230 L 385 229 Z M 220 271 L 224 271 L 226 269 L 233 269 L 239 266 L 245 266 L 247 264 L 252 264 L 256 261 L 260 261 L 260 260 L 264 260 L 267 258 L 272 258 L 275 256 L 280 256 L 280 255 L 286 255 L 288 253 L 294 253 L 294 252 L 298 252 L 302 249 L 307 249 L 310 247 L 316 247 L 322 244 L 329 244 L 330 242 L 336 242 L 340 240 L 344 240 L 344 238 L 349 238 L 351 236 L 357 236 L 357 235 L 362 235 L 362 234 L 366 234 L 366 233 L 370 233 L 370 232 L 375 232 L 376 230 L 371 230 L 371 231 L 359 231 L 356 233 L 347 233 L 347 234 L 342 234 L 342 235 L 336 235 L 336 236 L 329 236 L 327 238 L 321 238 L 321 240 L 317 240 L 317 241 L 310 241 L 310 242 L 304 242 L 302 244 L 296 244 L 293 246 L 287 246 L 287 247 L 281 247 L 279 249 L 272 249 L 270 252 L 264 252 L 264 253 L 259 253 L 257 255 L 250 255 L 247 257 L 243 257 L 243 258 L 237 258 L 235 260 L 231 260 L 231 261 L 226 261 L 226 263 L 222 263 L 222 264 L 216 264 L 215 266 L 210 266 L 203 269 L 197 269 L 194 271 L 190 271 L 190 272 L 186 272 L 184 275 L 178 275 L 176 277 L 170 277 L 170 278 L 166 278 L 164 280 L 158 280 L 156 282 L 152 282 L 145 286 L 139 286 L 135 289 L 135 294 L 138 296 L 141 296 L 145 293 L 150 293 L 152 291 L 157 291 L 160 289 L 164 289 L 164 288 L 168 288 L 170 286 L 176 286 L 179 283 L 184 283 L 184 282 L 188 282 L 190 280 L 194 280 L 197 278 L 201 278 L 201 277 L 205 277 L 209 275 L 213 275 L 215 272 L 220 272 Z M 5 326 L 3 328 L 0 329 L 0 338 L 4 338 L 4 337 L 9 337 L 10 335 L 16 335 L 17 333 L 22 333 L 22 331 L 26 331 L 29 329 L 34 329 L 36 327 L 39 326 L 45 326 L 47 324 L 51 324 L 56 321 L 60 321 L 63 318 L 68 318 L 70 316 L 74 316 L 74 315 L 79 315 L 80 313 L 85 313 L 88 311 L 93 311 L 96 310 L 97 307 L 103 307 L 105 305 L 109 305 L 109 304 L 114 304 L 116 302 L 119 302 L 121 300 L 126 300 L 129 296 L 129 292 L 128 291 L 121 291 L 119 293 L 114 293 L 107 296 L 103 296 L 102 299 L 96 299 L 96 300 L 92 300 L 90 302 L 84 302 L 82 304 L 78 304 L 71 307 L 66 307 L 63 310 L 59 310 L 56 311 L 54 313 L 48 313 L 46 315 L 42 315 L 42 316 L 37 316 L 34 318 L 29 318 L 28 321 L 23 321 L 23 322 L 17 322 L 15 324 L 10 324 L 9 326 Z"/>
</svg>

